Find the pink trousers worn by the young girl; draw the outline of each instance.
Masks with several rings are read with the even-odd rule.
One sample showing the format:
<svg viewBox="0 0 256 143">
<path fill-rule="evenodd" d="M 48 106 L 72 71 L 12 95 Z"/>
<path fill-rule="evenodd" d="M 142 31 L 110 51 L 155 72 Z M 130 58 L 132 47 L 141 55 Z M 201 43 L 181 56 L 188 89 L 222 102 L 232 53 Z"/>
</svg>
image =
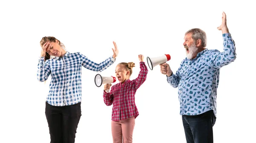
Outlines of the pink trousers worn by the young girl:
<svg viewBox="0 0 256 143">
<path fill-rule="evenodd" d="M 135 118 L 111 121 L 113 143 L 132 143 L 132 134 L 135 125 Z M 122 142 L 123 140 L 123 142 Z"/>
</svg>

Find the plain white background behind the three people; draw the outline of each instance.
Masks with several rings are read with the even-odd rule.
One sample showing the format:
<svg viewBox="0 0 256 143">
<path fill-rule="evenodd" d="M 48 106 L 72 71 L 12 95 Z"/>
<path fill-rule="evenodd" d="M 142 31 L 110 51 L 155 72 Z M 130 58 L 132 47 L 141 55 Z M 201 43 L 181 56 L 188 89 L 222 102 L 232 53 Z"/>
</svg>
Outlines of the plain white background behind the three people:
<svg viewBox="0 0 256 143">
<path fill-rule="evenodd" d="M 186 57 L 183 37 L 192 28 L 207 33 L 208 49 L 223 51 L 222 11 L 236 42 L 235 62 L 221 68 L 217 98 L 215 143 L 255 142 L 255 7 L 249 0 L 2 0 L 0 2 L 0 142 L 49 143 L 45 100 L 50 78 L 38 82 L 40 40 L 54 36 L 70 52 L 81 52 L 100 63 L 110 57 L 115 41 L 116 62 L 102 76 L 114 74 L 116 64 L 134 62 L 131 80 L 139 73 L 138 54 L 170 54 L 174 72 Z M 135 120 L 134 143 L 186 143 L 177 89 L 149 70 L 137 90 L 140 115 Z M 103 102 L 97 73 L 82 69 L 82 116 L 76 143 L 111 143 L 111 110 Z M 117 83 L 117 82 L 116 82 Z M 114 84 L 116 84 L 114 83 Z"/>
</svg>

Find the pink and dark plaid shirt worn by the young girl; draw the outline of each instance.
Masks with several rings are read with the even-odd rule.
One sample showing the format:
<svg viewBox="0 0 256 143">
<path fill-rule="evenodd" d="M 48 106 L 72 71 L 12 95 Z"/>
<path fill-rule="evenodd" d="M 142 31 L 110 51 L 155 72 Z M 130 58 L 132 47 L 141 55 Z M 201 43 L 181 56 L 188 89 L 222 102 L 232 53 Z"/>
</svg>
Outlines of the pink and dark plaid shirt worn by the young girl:
<svg viewBox="0 0 256 143">
<path fill-rule="evenodd" d="M 140 62 L 139 76 L 134 80 L 126 80 L 111 87 L 109 93 L 103 93 L 104 102 L 107 106 L 113 104 L 112 120 L 125 120 L 129 117 L 137 117 L 139 112 L 135 105 L 135 92 L 145 82 L 148 69 L 144 62 Z"/>
</svg>

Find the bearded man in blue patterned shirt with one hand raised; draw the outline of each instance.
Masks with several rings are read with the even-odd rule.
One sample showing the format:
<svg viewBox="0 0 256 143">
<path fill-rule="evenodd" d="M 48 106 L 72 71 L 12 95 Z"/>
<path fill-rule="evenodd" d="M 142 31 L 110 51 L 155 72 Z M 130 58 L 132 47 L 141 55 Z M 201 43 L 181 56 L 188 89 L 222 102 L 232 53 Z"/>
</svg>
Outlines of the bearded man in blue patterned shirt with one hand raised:
<svg viewBox="0 0 256 143">
<path fill-rule="evenodd" d="M 178 87 L 180 115 L 187 143 L 213 143 L 212 127 L 216 120 L 216 98 L 220 68 L 236 59 L 236 47 L 227 28 L 226 14 L 222 13 L 224 51 L 208 50 L 207 37 L 201 29 L 186 32 L 183 46 L 186 58 L 176 74 L 169 64 L 160 64 L 160 72 L 168 83 Z"/>
</svg>

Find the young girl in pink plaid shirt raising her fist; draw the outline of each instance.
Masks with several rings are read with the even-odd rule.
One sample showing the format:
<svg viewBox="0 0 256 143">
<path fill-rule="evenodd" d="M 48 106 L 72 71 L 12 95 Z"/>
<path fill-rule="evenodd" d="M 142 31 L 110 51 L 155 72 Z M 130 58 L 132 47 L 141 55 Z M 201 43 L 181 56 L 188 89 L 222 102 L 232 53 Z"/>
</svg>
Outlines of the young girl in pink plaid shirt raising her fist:
<svg viewBox="0 0 256 143">
<path fill-rule="evenodd" d="M 109 93 L 106 92 L 110 89 L 111 84 L 104 86 L 104 102 L 112 109 L 111 130 L 113 143 L 132 143 L 132 134 L 134 129 L 135 118 L 139 115 L 135 105 L 135 92 L 146 80 L 148 69 L 143 62 L 143 55 L 139 55 L 140 60 L 140 73 L 135 80 L 130 80 L 132 68 L 134 63 L 119 63 L 116 66 L 116 77 L 119 83 L 111 88 Z"/>
</svg>

